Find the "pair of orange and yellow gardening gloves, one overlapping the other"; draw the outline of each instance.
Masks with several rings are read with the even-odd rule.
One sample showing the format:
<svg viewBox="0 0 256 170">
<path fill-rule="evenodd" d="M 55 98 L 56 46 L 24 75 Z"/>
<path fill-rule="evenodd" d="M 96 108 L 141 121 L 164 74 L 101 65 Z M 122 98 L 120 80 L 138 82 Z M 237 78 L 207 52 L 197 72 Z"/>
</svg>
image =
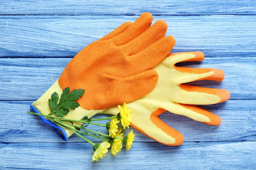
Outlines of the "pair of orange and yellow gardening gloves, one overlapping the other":
<svg viewBox="0 0 256 170">
<path fill-rule="evenodd" d="M 65 118 L 80 120 L 106 113 L 117 115 L 117 105 L 127 103 L 132 110 L 131 126 L 148 137 L 169 146 L 181 145 L 180 132 L 165 124 L 159 115 L 169 111 L 205 124 L 218 126 L 220 117 L 195 105 L 225 102 L 229 91 L 191 86 L 198 80 L 221 81 L 222 70 L 175 66 L 179 62 L 202 61 L 197 52 L 170 53 L 175 39 L 165 36 L 167 24 L 158 20 L 151 26 L 153 16 L 143 13 L 134 22 L 126 22 L 105 37 L 82 49 L 67 64 L 58 80 L 31 108 L 36 113 L 49 114 L 48 99 L 63 89 L 84 89 L 76 102 L 80 104 Z M 48 121 L 66 141 L 72 132 Z"/>
</svg>

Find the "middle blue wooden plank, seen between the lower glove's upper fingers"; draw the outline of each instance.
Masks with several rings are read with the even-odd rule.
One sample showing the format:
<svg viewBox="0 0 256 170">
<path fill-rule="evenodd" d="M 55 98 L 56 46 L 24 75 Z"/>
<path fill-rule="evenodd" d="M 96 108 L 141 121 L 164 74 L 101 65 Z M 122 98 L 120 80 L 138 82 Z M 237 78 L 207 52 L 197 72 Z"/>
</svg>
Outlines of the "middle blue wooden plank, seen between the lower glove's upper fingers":
<svg viewBox="0 0 256 170">
<path fill-rule="evenodd" d="M 36 100 L 61 75 L 71 58 L 1 58 L 0 100 Z M 239 62 L 238 62 L 239 61 Z M 222 82 L 199 81 L 190 84 L 225 88 L 231 99 L 256 98 L 256 57 L 208 57 L 202 62 L 180 65 L 219 68 L 225 72 Z M 247 77 L 245 79 L 245 76 Z"/>
</svg>

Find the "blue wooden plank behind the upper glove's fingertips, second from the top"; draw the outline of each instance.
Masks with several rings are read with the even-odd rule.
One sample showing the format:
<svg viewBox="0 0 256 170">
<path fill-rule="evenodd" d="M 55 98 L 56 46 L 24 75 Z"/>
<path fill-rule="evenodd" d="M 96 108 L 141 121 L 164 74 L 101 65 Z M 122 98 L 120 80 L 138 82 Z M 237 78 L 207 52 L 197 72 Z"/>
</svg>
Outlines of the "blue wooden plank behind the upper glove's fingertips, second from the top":
<svg viewBox="0 0 256 170">
<path fill-rule="evenodd" d="M 1 16 L 0 57 L 73 57 L 85 46 L 137 16 Z M 155 16 L 176 38 L 173 52 L 209 57 L 254 57 L 254 15 Z M 243 22 L 241 22 L 243 21 Z"/>
</svg>

